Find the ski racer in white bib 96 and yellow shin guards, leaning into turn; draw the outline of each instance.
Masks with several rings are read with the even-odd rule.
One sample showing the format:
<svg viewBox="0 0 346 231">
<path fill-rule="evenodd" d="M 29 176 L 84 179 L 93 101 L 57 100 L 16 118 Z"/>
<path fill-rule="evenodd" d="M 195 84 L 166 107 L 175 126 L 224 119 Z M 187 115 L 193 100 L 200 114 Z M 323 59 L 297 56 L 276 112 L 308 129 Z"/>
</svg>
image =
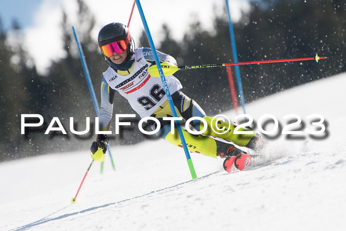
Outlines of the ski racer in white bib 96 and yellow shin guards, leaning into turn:
<svg viewBox="0 0 346 231">
<path fill-rule="evenodd" d="M 141 118 L 151 116 L 160 121 L 161 129 L 156 133 L 157 136 L 182 147 L 177 129 L 175 128 L 174 135 L 171 134 L 171 121 L 163 120 L 164 117 L 172 117 L 173 115 L 162 81 L 160 78 L 151 77 L 148 73 L 148 68 L 155 64 L 152 50 L 143 47 L 135 48 L 129 28 L 121 23 L 110 23 L 104 26 L 98 34 L 98 45 L 109 65 L 108 69 L 103 72 L 101 81 L 100 131 L 108 131 L 110 129 L 114 92 L 117 91 L 129 101 L 133 110 Z M 160 51 L 157 51 L 157 53 L 160 62 L 169 62 L 177 65 L 172 56 Z M 179 80 L 173 75 L 166 76 L 166 80 L 178 117 L 187 120 L 197 116 L 207 121 L 208 129 L 203 135 L 227 139 L 234 144 L 254 150 L 261 148 L 259 143 L 262 138 L 250 128 L 240 128 L 239 131 L 251 131 L 252 134 L 236 135 L 233 134 L 236 127 L 235 124 L 229 126 L 228 123 L 219 122 L 219 128 L 225 127 L 227 129 L 229 127 L 229 130 L 222 135 L 215 133 L 215 125 L 213 125 L 214 131 L 211 129 L 212 117 L 208 117 L 195 100 L 180 91 L 182 86 Z M 158 126 L 152 120 L 148 120 L 148 123 L 153 131 Z M 200 120 L 192 121 L 192 125 L 197 131 L 202 131 L 204 128 L 204 124 Z M 206 136 L 192 135 L 186 130 L 183 130 L 183 135 L 187 148 L 191 152 L 201 153 L 214 158 L 232 157 L 232 163 L 237 156 L 242 157 L 242 151 L 230 143 L 221 142 Z M 107 135 L 98 135 L 96 141 L 90 147 L 91 156 L 94 158 L 93 155 L 98 148 L 103 149 L 103 155 L 107 150 L 107 144 Z M 239 163 L 245 161 L 244 158 L 243 160 L 242 158 L 237 159 L 240 159 Z M 247 164 L 245 163 L 245 167 L 247 167 Z M 243 163 L 239 166 L 240 170 L 244 168 Z"/>
</svg>

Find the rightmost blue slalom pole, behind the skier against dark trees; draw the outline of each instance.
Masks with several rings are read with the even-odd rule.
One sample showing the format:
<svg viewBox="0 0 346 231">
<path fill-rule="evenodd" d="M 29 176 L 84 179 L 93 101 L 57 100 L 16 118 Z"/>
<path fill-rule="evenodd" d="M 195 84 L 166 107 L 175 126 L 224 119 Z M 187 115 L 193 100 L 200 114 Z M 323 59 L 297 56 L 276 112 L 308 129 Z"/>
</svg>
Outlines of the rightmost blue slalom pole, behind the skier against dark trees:
<svg viewBox="0 0 346 231">
<path fill-rule="evenodd" d="M 228 25 L 229 25 L 229 33 L 231 37 L 231 46 L 232 46 L 232 52 L 233 52 L 233 60 L 234 62 L 238 62 L 238 55 L 237 55 L 237 48 L 235 46 L 235 37 L 234 37 L 234 30 L 233 30 L 233 24 L 232 24 L 232 19 L 231 19 L 231 12 L 229 10 L 229 4 L 228 0 L 226 0 L 226 5 L 227 5 L 227 12 L 228 12 Z M 245 99 L 244 99 L 244 92 L 243 92 L 243 87 L 242 87 L 242 81 L 240 78 L 240 71 L 239 71 L 239 66 L 235 66 L 235 74 L 237 76 L 237 84 L 238 84 L 238 90 L 239 90 L 239 95 L 240 95 L 240 102 L 242 104 L 244 114 L 245 112 Z"/>
</svg>

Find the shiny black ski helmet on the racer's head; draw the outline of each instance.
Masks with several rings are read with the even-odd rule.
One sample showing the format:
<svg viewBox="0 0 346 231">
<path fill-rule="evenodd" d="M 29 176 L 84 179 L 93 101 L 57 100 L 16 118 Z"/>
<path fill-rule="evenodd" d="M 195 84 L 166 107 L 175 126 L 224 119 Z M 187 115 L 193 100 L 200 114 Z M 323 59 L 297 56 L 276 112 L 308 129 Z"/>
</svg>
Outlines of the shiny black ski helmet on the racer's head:
<svg viewBox="0 0 346 231">
<path fill-rule="evenodd" d="M 127 26 L 125 26 L 122 23 L 109 23 L 107 25 L 105 25 L 100 32 L 98 33 L 98 46 L 101 49 L 102 52 L 102 48 L 101 46 L 110 44 L 110 43 L 114 43 L 117 41 L 121 41 L 121 40 L 126 40 L 127 41 L 127 56 L 126 59 L 124 60 L 124 62 L 129 62 L 131 59 L 131 56 L 133 54 L 133 46 L 132 46 L 132 38 L 131 38 L 131 34 L 130 34 L 130 30 Z M 115 67 L 115 63 L 113 63 L 111 61 L 111 59 L 109 57 L 107 57 L 106 55 L 104 55 L 104 53 L 102 52 L 103 57 L 105 58 L 106 62 L 108 63 L 109 66 L 111 66 L 114 69 L 117 69 Z"/>
</svg>

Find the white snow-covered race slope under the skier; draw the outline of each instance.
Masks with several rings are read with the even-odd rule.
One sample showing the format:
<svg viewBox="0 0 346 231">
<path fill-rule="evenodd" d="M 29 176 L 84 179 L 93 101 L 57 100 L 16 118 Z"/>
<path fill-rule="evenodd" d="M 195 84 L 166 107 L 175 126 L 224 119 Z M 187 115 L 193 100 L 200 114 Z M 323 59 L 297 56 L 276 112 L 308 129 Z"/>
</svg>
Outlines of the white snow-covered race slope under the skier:
<svg viewBox="0 0 346 231">
<path fill-rule="evenodd" d="M 266 155 L 283 158 L 231 174 L 222 159 L 193 153 L 197 182 L 183 150 L 164 140 L 113 147 L 116 171 L 108 156 L 102 175 L 95 162 L 77 204 L 87 147 L 0 163 L 0 230 L 346 230 L 345 86 L 340 74 L 248 104 L 255 121 L 295 113 L 308 127 L 305 117 L 321 114 L 326 136 L 281 135 Z M 307 150 L 294 148 L 305 139 Z"/>
</svg>

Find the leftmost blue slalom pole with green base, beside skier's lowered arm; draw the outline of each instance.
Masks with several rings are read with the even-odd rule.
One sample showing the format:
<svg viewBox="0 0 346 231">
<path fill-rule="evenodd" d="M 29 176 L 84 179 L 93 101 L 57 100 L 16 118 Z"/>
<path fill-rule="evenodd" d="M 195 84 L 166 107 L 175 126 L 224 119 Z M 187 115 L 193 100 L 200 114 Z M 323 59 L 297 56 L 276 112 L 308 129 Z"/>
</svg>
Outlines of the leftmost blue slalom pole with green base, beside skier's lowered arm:
<svg viewBox="0 0 346 231">
<path fill-rule="evenodd" d="M 92 87 L 91 78 L 90 78 L 90 75 L 89 75 L 89 70 L 87 69 L 87 62 L 86 62 L 86 59 L 84 58 L 83 49 L 82 49 L 81 43 L 79 42 L 79 39 L 78 39 L 78 36 L 77 36 L 77 32 L 76 32 L 74 26 L 72 26 L 72 30 L 73 30 L 73 35 L 75 36 L 75 40 L 76 40 L 76 42 L 77 42 L 78 51 L 79 51 L 79 56 L 80 56 L 80 58 L 81 58 L 81 62 L 82 62 L 84 74 L 86 75 L 87 86 L 89 87 L 89 91 L 90 91 L 90 94 L 91 94 L 92 103 L 94 104 L 96 116 L 98 117 L 98 114 L 99 114 L 99 106 L 98 106 L 98 103 L 97 103 L 97 98 L 96 98 L 96 94 L 95 94 L 94 88 Z M 110 145 L 108 145 L 107 150 L 108 150 L 109 156 L 110 156 L 110 158 L 111 158 L 113 170 L 115 170 L 115 165 L 114 165 L 112 153 L 111 153 L 111 150 L 110 150 Z M 103 172 L 103 161 L 101 162 L 101 173 L 102 173 L 102 172 Z"/>
</svg>

